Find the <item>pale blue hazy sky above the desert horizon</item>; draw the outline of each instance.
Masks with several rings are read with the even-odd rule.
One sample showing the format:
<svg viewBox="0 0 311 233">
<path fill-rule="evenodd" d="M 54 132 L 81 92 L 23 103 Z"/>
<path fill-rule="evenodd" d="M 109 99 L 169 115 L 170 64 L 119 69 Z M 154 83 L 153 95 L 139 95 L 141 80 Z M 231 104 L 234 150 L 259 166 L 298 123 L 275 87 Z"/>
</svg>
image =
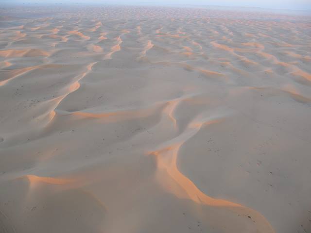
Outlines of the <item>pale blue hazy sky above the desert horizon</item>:
<svg viewBox="0 0 311 233">
<path fill-rule="evenodd" d="M 9 2 L 52 2 L 52 3 L 117 3 L 117 4 L 191 4 L 216 6 L 246 6 L 291 10 L 311 10 L 311 0 L 0 0 Z"/>
</svg>

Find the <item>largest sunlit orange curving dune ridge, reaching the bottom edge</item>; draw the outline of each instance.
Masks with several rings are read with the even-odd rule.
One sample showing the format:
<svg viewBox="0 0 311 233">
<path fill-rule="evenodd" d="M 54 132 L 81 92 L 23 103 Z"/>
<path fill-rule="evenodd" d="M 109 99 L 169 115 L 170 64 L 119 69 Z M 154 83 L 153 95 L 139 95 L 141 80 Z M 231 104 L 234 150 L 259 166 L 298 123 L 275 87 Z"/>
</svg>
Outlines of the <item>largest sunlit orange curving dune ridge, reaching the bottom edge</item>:
<svg viewBox="0 0 311 233">
<path fill-rule="evenodd" d="M 170 113 L 172 114 L 172 113 Z M 178 152 L 183 144 L 190 139 L 193 135 L 199 132 L 199 130 L 210 124 L 216 124 L 222 122 L 223 119 L 211 119 L 206 122 L 197 122 L 190 124 L 188 130 L 177 136 L 180 141 L 176 141 L 176 138 L 172 140 L 171 144 L 168 142 L 163 148 L 147 152 L 147 155 L 155 156 L 157 163 L 157 178 L 158 182 L 163 188 L 175 195 L 180 199 L 189 199 L 198 204 L 222 207 L 228 210 L 232 210 L 240 215 L 251 218 L 256 224 L 258 233 L 275 233 L 270 223 L 255 210 L 244 207 L 241 204 L 234 203 L 228 200 L 214 199 L 203 193 L 188 177 L 182 174 L 177 167 Z M 167 179 L 170 177 L 170 179 Z M 176 184 L 178 188 L 176 188 Z"/>
</svg>

